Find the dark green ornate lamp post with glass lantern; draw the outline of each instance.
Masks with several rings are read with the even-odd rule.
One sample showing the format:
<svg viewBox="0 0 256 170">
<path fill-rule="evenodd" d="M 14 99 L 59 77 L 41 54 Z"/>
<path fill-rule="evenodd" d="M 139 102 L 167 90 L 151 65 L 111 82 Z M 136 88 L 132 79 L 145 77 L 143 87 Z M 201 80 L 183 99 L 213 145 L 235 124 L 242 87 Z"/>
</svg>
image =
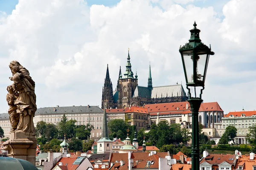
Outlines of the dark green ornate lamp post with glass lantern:
<svg viewBox="0 0 256 170">
<path fill-rule="evenodd" d="M 189 104 L 192 112 L 192 170 L 199 170 L 199 126 L 198 126 L 198 110 L 203 102 L 201 95 L 204 90 L 204 81 L 207 72 L 209 55 L 214 55 L 210 48 L 201 42 L 199 33 L 196 28 L 190 30 L 191 36 L 189 43 L 180 46 L 180 55 L 182 58 L 183 69 L 186 78 L 186 88 L 189 90 Z M 196 89 L 200 88 L 200 95 L 197 96 Z M 194 90 L 194 97 L 191 92 Z"/>
</svg>

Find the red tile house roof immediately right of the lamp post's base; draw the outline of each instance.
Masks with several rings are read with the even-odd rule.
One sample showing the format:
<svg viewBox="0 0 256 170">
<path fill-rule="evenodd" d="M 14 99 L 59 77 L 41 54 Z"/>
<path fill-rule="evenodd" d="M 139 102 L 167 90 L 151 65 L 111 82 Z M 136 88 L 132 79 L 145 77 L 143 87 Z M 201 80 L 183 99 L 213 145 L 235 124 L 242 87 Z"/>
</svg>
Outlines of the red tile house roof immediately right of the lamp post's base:
<svg viewBox="0 0 256 170">
<path fill-rule="evenodd" d="M 221 164 L 224 161 L 226 161 L 228 164 L 233 164 L 235 159 L 236 159 L 235 155 L 209 154 L 207 157 L 203 158 L 200 161 L 200 164 L 202 164 L 203 162 L 207 162 L 207 163 L 212 164 L 212 165 L 213 164 L 218 165 L 218 164 Z"/>
</svg>

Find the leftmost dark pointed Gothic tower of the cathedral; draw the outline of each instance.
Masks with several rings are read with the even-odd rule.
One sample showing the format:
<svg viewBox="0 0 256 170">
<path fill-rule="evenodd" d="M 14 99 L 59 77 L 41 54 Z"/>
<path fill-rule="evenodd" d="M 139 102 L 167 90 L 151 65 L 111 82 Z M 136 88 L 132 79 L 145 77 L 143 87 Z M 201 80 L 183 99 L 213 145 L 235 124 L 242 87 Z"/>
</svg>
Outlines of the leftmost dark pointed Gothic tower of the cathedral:
<svg viewBox="0 0 256 170">
<path fill-rule="evenodd" d="M 102 109 L 104 109 L 104 101 L 106 101 L 106 108 L 113 108 L 113 86 L 109 77 L 108 65 L 106 78 L 102 89 Z"/>
</svg>

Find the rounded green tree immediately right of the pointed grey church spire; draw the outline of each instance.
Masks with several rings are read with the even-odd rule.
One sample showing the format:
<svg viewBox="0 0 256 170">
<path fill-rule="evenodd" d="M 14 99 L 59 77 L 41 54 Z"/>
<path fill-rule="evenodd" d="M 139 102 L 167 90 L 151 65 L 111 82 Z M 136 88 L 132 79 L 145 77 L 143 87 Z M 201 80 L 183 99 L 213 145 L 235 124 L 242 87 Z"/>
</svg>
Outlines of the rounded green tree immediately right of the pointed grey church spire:
<svg viewBox="0 0 256 170">
<path fill-rule="evenodd" d="M 113 119 L 108 123 L 108 129 L 111 131 L 109 137 L 125 139 L 127 136 L 126 130 L 129 125 L 123 119 Z"/>
</svg>

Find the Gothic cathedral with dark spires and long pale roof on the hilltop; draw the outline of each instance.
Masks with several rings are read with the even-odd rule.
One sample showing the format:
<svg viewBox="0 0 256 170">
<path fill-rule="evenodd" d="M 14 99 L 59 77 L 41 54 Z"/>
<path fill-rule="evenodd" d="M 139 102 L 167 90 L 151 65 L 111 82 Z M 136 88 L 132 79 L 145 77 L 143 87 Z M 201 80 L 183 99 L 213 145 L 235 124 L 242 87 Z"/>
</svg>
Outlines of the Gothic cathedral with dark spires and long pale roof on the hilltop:
<svg viewBox="0 0 256 170">
<path fill-rule="evenodd" d="M 170 103 L 186 101 L 188 97 L 181 84 L 170 86 L 152 86 L 151 67 L 149 64 L 148 86 L 138 86 L 137 72 L 131 71 L 130 54 L 128 51 L 125 73 L 122 75 L 121 66 L 116 90 L 113 91 L 112 81 L 107 65 L 106 78 L 102 89 L 102 109 L 123 108 L 129 106 L 144 106 L 144 104 Z"/>
</svg>

